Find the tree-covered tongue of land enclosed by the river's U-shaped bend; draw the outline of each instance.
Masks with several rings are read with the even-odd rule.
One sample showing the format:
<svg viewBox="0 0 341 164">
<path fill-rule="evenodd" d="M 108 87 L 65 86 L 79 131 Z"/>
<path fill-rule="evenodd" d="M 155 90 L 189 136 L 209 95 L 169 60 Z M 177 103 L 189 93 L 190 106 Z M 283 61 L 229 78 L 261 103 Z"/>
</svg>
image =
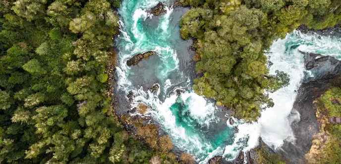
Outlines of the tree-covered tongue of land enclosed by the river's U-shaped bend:
<svg viewBox="0 0 341 164">
<path fill-rule="evenodd" d="M 264 51 L 272 42 L 301 24 L 321 29 L 341 22 L 340 0 L 181 2 L 193 6 L 179 24 L 182 38 L 196 38 L 196 69 L 203 76 L 195 79 L 195 92 L 215 98 L 246 120 L 255 120 L 262 104 L 272 107 L 267 93 L 289 82 L 284 72 L 268 72 Z"/>
</svg>

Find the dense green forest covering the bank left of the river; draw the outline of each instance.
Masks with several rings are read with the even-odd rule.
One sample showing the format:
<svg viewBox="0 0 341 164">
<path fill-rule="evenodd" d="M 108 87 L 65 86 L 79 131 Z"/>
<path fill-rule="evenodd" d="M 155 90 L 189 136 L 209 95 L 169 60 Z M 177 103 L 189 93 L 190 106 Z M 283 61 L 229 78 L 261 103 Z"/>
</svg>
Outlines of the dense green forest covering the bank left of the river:
<svg viewBox="0 0 341 164">
<path fill-rule="evenodd" d="M 0 163 L 148 164 L 165 153 L 123 131 L 106 62 L 119 0 L 2 0 Z M 174 157 L 175 158 L 175 157 Z M 172 159 L 174 160 L 174 159 Z"/>
</svg>

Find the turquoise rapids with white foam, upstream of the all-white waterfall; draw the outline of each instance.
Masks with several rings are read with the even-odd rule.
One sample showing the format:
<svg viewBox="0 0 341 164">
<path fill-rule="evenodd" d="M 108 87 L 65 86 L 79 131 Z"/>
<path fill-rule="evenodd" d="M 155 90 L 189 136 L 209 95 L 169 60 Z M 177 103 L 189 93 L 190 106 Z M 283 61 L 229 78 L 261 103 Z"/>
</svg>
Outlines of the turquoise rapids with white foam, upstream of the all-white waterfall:
<svg viewBox="0 0 341 164">
<path fill-rule="evenodd" d="M 192 92 L 190 70 L 194 71 L 194 65 L 188 66 L 191 58 L 187 51 L 191 42 L 180 38 L 177 23 L 187 9 L 170 7 L 161 16 L 149 15 L 146 10 L 157 3 L 153 0 L 121 3 L 118 11 L 121 34 L 116 40 L 118 89 L 125 95 L 134 92 L 132 107 L 141 102 L 146 104 L 149 107 L 146 114 L 153 116 L 170 135 L 174 146 L 205 163 L 216 154 L 222 155 L 224 147 L 233 143 L 234 129 L 227 126 L 224 114 L 216 114 L 211 101 Z M 127 59 L 147 51 L 156 51 L 157 55 L 138 66 L 126 66 Z M 160 90 L 150 93 L 148 88 L 156 83 Z M 175 89 L 185 93 L 176 96 Z M 237 153 L 238 149 L 227 156 L 233 158 Z"/>
</svg>

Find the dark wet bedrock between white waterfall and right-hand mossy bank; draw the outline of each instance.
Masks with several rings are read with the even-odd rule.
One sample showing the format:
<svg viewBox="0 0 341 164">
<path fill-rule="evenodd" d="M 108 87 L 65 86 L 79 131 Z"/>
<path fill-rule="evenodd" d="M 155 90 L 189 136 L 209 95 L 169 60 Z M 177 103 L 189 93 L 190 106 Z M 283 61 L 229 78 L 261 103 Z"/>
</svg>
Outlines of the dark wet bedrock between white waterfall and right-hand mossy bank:
<svg viewBox="0 0 341 164">
<path fill-rule="evenodd" d="M 307 73 L 298 89 L 293 111 L 298 111 L 300 120 L 291 124 L 296 137 L 294 144 L 285 142 L 282 154 L 290 160 L 290 164 L 304 164 L 304 155 L 310 150 L 313 134 L 318 131 L 315 109 L 312 102 L 320 97 L 341 75 L 341 62 L 334 57 L 319 54 L 304 55 Z"/>
</svg>

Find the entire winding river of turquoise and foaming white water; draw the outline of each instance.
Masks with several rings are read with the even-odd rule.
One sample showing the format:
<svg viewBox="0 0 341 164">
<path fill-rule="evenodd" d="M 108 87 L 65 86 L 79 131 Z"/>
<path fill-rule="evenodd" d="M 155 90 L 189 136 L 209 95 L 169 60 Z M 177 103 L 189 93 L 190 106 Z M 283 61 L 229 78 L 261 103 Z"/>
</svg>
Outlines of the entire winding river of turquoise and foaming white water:
<svg viewBox="0 0 341 164">
<path fill-rule="evenodd" d="M 284 140 L 295 141 L 290 124 L 299 120 L 299 113 L 292 109 L 296 98 L 295 90 L 305 76 L 303 55 L 298 52 L 314 52 L 341 58 L 341 40 L 317 34 L 288 34 L 285 39 L 275 41 L 267 52 L 274 64 L 270 73 L 281 70 L 290 75 L 289 86 L 270 93 L 275 106 L 262 112 L 258 122 L 244 123 L 235 120 L 228 125 L 228 115 L 214 106 L 212 100 L 193 92 L 193 52 L 188 49 L 192 41 L 179 36 L 178 20 L 187 8 L 170 7 L 161 16 L 147 11 L 157 5 L 155 0 L 123 0 L 118 10 L 120 35 L 115 44 L 118 53 L 116 69 L 119 107 L 126 108 L 126 95 L 136 96 L 129 108 L 139 103 L 148 106 L 145 115 L 153 117 L 161 128 L 170 135 L 173 145 L 193 155 L 200 164 L 205 164 L 216 155 L 233 160 L 238 153 L 258 144 L 259 137 L 274 149 Z M 128 67 L 126 61 L 133 55 L 155 51 L 157 55 Z M 160 89 L 151 93 L 149 88 L 159 84 Z M 175 90 L 184 93 L 176 95 Z M 139 114 L 139 113 L 134 113 Z"/>
</svg>

